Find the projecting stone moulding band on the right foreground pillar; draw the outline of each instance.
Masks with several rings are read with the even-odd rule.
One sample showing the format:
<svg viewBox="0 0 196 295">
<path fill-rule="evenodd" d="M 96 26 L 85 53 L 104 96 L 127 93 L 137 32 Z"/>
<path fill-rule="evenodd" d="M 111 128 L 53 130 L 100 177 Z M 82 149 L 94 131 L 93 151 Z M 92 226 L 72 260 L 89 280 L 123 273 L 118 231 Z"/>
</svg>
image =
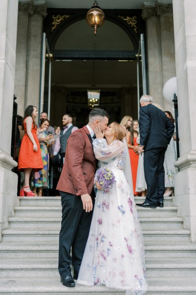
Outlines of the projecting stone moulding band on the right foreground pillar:
<svg viewBox="0 0 196 295">
<path fill-rule="evenodd" d="M 196 151 L 192 150 L 178 158 L 178 160 L 175 162 L 175 167 L 177 167 L 180 171 L 188 168 L 196 169 Z"/>
</svg>

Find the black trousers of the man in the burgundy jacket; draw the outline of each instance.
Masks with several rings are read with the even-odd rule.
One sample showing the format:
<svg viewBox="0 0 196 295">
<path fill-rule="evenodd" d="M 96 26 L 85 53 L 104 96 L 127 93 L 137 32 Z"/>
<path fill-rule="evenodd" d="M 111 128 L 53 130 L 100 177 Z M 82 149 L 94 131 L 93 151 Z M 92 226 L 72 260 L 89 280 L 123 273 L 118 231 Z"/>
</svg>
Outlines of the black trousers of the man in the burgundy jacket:
<svg viewBox="0 0 196 295">
<path fill-rule="evenodd" d="M 77 274 L 81 265 L 86 242 L 89 236 L 93 210 L 83 209 L 80 196 L 60 191 L 62 204 L 62 222 L 59 234 L 59 263 L 61 276 L 71 273 L 71 265 Z M 91 193 L 93 207 L 95 205 L 94 190 Z M 72 247 L 72 256 L 71 256 Z"/>
</svg>

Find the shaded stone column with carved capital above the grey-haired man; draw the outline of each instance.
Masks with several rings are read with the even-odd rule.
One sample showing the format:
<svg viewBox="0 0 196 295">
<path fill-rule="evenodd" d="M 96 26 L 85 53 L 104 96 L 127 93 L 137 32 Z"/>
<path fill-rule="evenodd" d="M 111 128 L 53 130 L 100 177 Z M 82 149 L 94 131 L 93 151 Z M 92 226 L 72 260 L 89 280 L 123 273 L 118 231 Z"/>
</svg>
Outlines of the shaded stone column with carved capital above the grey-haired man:
<svg viewBox="0 0 196 295">
<path fill-rule="evenodd" d="M 153 102 L 171 110 L 164 101 L 163 86 L 175 76 L 172 4 L 152 3 L 142 7 L 147 25 L 147 65 L 149 94 Z"/>
</svg>

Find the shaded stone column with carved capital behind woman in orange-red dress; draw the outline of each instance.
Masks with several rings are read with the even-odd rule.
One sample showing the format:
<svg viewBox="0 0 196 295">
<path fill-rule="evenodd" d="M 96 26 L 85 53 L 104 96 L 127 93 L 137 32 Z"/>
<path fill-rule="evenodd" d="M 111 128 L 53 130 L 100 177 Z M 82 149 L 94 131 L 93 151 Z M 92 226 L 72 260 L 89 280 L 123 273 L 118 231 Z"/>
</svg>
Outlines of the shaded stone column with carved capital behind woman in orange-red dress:
<svg viewBox="0 0 196 295">
<path fill-rule="evenodd" d="M 28 105 L 39 106 L 43 17 L 47 15 L 45 1 L 39 2 L 19 1 L 15 95 L 22 116 Z"/>
</svg>

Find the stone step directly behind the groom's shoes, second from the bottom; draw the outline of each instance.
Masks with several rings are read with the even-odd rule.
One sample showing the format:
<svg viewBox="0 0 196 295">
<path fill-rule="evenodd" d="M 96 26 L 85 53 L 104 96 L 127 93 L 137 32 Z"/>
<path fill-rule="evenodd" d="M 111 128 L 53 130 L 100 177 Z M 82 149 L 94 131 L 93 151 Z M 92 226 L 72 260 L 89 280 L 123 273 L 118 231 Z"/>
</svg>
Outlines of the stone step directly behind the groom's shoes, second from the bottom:
<svg viewBox="0 0 196 295">
<path fill-rule="evenodd" d="M 147 277 L 196 277 L 196 258 L 147 258 Z M 58 258 L 1 258 L 0 277 L 59 277 Z"/>
</svg>

